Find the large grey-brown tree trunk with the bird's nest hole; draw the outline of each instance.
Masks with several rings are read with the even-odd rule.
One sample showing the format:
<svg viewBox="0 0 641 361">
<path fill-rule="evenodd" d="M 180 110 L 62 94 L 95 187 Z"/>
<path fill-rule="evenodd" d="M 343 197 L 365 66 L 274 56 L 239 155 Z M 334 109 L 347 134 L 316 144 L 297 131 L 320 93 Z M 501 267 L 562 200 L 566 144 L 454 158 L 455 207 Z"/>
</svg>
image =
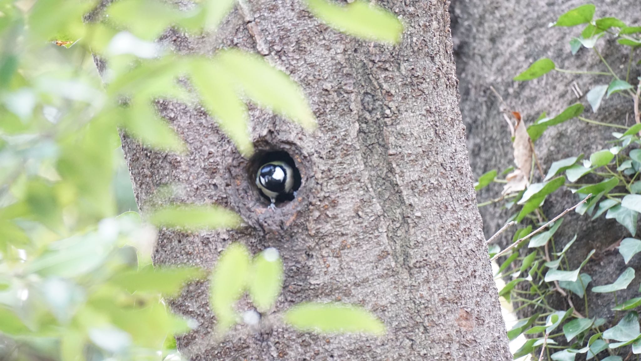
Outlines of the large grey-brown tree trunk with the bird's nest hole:
<svg viewBox="0 0 641 361">
<path fill-rule="evenodd" d="M 244 4 L 244 3 L 243 3 Z M 458 109 L 445 1 L 382 1 L 403 19 L 403 42 L 356 40 L 314 19 L 299 0 L 256 0 L 215 35 L 169 31 L 178 53 L 222 46 L 258 51 L 303 86 L 319 122 L 305 133 L 251 109 L 258 154 L 285 150 L 301 171 L 297 198 L 267 209 L 249 168 L 202 108 L 158 101 L 188 145 L 184 156 L 124 138 L 135 195 L 145 213 L 172 184 L 176 202 L 229 207 L 233 231 L 162 229 L 156 263 L 210 269 L 231 242 L 279 250 L 285 265 L 276 310 L 302 301 L 361 304 L 387 326 L 381 338 L 319 336 L 280 324 L 236 326 L 207 341 L 215 318 L 208 284 L 172 305 L 200 326 L 178 339 L 194 360 L 510 360 L 487 258 Z M 248 310 L 242 301 L 239 311 Z"/>
</svg>

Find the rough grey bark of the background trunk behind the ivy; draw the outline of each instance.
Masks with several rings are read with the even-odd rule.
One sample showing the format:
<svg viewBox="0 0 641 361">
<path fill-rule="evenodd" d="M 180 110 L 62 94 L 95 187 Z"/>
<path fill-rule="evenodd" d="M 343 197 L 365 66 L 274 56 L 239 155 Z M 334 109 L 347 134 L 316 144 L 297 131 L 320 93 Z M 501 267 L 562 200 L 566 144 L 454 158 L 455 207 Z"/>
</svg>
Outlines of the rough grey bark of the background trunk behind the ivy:
<svg viewBox="0 0 641 361">
<path fill-rule="evenodd" d="M 526 69 L 538 58 L 549 57 L 564 69 L 591 69 L 606 71 L 594 52 L 581 49 L 572 57 L 568 41 L 576 36 L 582 28 L 563 29 L 549 28 L 549 22 L 558 15 L 586 3 L 583 0 L 569 1 L 487 1 L 456 0 L 452 4 L 454 54 L 457 73 L 460 79 L 462 96 L 461 111 L 463 123 L 467 127 L 470 164 L 474 175 L 479 175 L 497 168 L 503 170 L 513 163 L 510 131 L 499 112 L 499 100 L 490 91 L 490 86 L 503 96 L 513 110 L 521 112 L 527 124 L 538 118 L 541 112 L 558 114 L 568 105 L 581 101 L 586 105 L 587 118 L 606 123 L 632 125 L 632 100 L 613 96 L 604 100 L 597 114 L 585 100 L 585 94 L 596 84 L 607 84 L 609 78 L 604 76 L 572 76 L 550 73 L 531 82 L 513 82 L 513 76 Z M 615 16 L 628 22 L 641 22 L 641 4 L 638 0 L 592 1 L 597 6 L 597 16 Z M 614 70 L 625 78 L 629 48 L 613 44 L 612 40 L 600 40 L 597 48 L 614 67 Z M 636 52 L 638 60 L 639 51 Z M 639 67 L 633 67 L 631 78 L 640 75 Z M 583 92 L 577 98 L 570 89 L 576 82 Z M 635 82 L 636 84 L 636 82 Z M 592 152 L 609 148 L 606 143 L 613 139 L 612 128 L 595 127 L 578 119 L 567 121 L 562 125 L 549 128 L 536 143 L 538 159 L 547 172 L 553 161 L 565 157 L 590 155 Z M 542 177 L 537 175 L 535 181 Z M 582 179 L 581 182 L 594 182 L 595 179 Z M 495 198 L 500 187 L 494 186 L 479 195 L 479 201 Z M 576 204 L 580 199 L 568 189 L 557 191 L 548 197 L 544 205 L 545 214 L 550 218 L 561 213 L 563 209 Z M 501 211 L 499 206 L 481 208 L 486 236 L 491 236 L 508 218 L 508 211 Z M 504 236 L 510 238 L 512 232 Z M 574 234 L 578 240 L 570 254 L 570 268 L 578 264 L 592 249 L 596 249 L 593 261 L 584 269 L 594 279 L 590 285 L 612 283 L 626 267 L 638 269 L 641 258 L 638 256 L 624 265 L 617 249 L 608 249 L 622 237 L 629 236 L 628 231 L 615 220 L 603 217 L 590 222 L 589 216 L 570 213 L 562 227 L 556 233 L 557 247 L 567 243 Z M 629 299 L 638 294 L 639 277 L 631 283 L 626 292 L 618 292 L 619 299 Z M 588 289 L 589 289 L 588 288 Z M 610 308 L 614 304 L 612 294 L 594 294 L 588 292 L 590 317 L 606 317 L 612 320 Z M 584 312 L 583 302 L 574 297 L 574 305 Z M 556 299 L 558 308 L 567 308 L 567 301 Z"/>
</svg>

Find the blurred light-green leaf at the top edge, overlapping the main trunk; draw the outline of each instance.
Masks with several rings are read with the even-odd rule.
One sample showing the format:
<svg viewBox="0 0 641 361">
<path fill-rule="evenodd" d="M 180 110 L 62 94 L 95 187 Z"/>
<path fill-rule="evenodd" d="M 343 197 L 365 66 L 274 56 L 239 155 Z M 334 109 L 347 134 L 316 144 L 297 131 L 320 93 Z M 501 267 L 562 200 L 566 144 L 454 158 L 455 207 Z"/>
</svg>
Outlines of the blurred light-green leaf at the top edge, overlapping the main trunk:
<svg viewBox="0 0 641 361">
<path fill-rule="evenodd" d="M 367 1 L 339 6 L 325 0 L 306 0 L 313 15 L 332 28 L 355 37 L 397 44 L 403 24 L 394 13 Z"/>
</svg>

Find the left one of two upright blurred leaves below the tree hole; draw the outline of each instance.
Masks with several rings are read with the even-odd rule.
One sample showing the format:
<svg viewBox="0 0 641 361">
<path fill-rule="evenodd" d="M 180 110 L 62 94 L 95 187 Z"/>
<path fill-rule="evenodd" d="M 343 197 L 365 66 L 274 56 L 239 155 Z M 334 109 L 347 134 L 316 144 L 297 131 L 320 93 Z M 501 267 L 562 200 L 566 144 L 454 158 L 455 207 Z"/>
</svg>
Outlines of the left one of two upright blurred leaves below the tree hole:
<svg viewBox="0 0 641 361">
<path fill-rule="evenodd" d="M 217 317 L 217 328 L 221 331 L 236 322 L 234 304 L 245 291 L 250 263 L 247 247 L 232 243 L 222 252 L 213 268 L 210 302 Z"/>
</svg>

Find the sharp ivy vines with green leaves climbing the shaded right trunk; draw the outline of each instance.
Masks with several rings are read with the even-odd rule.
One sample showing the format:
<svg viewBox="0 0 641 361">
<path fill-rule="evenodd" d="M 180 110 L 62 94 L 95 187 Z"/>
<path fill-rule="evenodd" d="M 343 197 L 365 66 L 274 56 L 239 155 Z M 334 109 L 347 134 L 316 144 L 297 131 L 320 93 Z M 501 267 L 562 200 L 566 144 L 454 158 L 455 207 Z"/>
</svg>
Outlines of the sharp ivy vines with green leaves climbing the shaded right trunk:
<svg viewBox="0 0 641 361">
<path fill-rule="evenodd" d="M 627 264 L 638 252 L 641 252 L 641 240 L 633 238 L 637 234 L 638 213 L 641 212 L 641 78 L 631 79 L 631 73 L 636 66 L 641 64 L 635 59 L 635 51 L 641 46 L 641 26 L 628 26 L 625 22 L 615 17 L 596 18 L 595 6 L 586 4 L 574 8 L 561 15 L 551 26 L 583 26 L 577 37 L 570 40 L 570 51 L 576 55 L 581 48 L 593 51 L 601 60 L 606 71 L 582 71 L 562 69 L 554 64 L 553 60 L 542 58 L 534 62 L 525 71 L 517 75 L 514 80 L 526 81 L 544 76 L 552 71 L 571 73 L 576 75 L 600 76 L 599 79 L 608 78 L 607 82 L 596 85 L 585 95 L 592 112 L 596 113 L 602 101 L 610 96 L 622 96 L 628 99 L 636 115 L 636 123 L 632 126 L 621 125 L 612 119 L 612 123 L 604 123 L 585 118 L 585 107 L 576 103 L 567 107 L 556 116 L 547 116 L 545 113 L 527 127 L 527 134 L 523 135 L 525 141 L 519 140 L 519 127 L 526 127 L 520 121 L 520 114 L 513 113 L 517 118 L 517 131 L 515 132 L 514 146 L 515 158 L 517 154 L 527 154 L 533 157 L 531 168 L 523 170 L 529 179 L 519 187 L 509 177 L 499 179 L 497 170 L 482 175 L 476 189 L 479 190 L 492 182 L 506 184 L 501 198 L 483 202 L 485 206 L 493 202 L 504 202 L 506 209 L 513 209 L 513 215 L 508 221 L 529 224 L 522 226 L 514 236 L 513 242 L 531 233 L 532 225 L 540 226 L 547 222 L 547 217 L 542 208 L 545 199 L 555 192 L 569 189 L 576 194 L 579 200 L 592 194 L 584 204 L 576 207 L 576 213 L 590 216 L 591 220 L 604 216 L 613 218 L 626 228 L 630 237 L 620 242 L 619 252 Z M 597 44 L 605 39 L 615 40 L 621 46 L 629 47 L 629 61 L 623 75 L 613 71 L 613 67 L 606 62 L 599 53 Z M 638 54 L 638 53 L 637 53 Z M 541 174 L 540 182 L 531 183 L 535 176 L 534 143 L 545 136 L 545 130 L 570 119 L 577 118 L 592 125 L 604 128 L 613 128 L 612 141 L 604 145 L 602 150 L 589 156 L 578 154 L 574 157 L 560 159 L 549 166 L 547 174 Z M 519 144 L 517 144 L 519 143 Z M 521 153 L 517 147 L 522 147 Z M 517 167 L 519 161 L 517 160 Z M 501 175 L 513 172 L 510 168 Z M 586 177 L 591 175 L 592 178 Z M 585 178 L 584 178 L 585 177 Z M 585 179 L 596 179 L 596 182 L 581 182 Z M 508 187 L 511 185 L 511 187 Z M 576 235 L 572 240 L 555 240 L 554 234 L 563 225 L 563 219 L 556 221 L 543 233 L 531 237 L 528 242 L 521 243 L 512 252 L 506 253 L 506 258 L 499 267 L 496 277 L 508 277 L 511 280 L 499 291 L 499 295 L 522 304 L 517 310 L 531 307 L 535 314 L 521 319 L 508 331 L 510 340 L 525 334 L 528 340 L 515 352 L 514 357 L 519 358 L 532 354 L 543 346 L 547 358 L 557 361 L 573 361 L 578 355 L 580 358 L 590 360 L 617 361 L 628 359 L 630 355 L 619 355 L 619 350 L 624 346 L 631 346 L 633 355 L 641 354 L 641 332 L 639 330 L 639 315 L 637 308 L 641 306 L 641 297 L 617 300 L 617 291 L 628 288 L 635 278 L 635 270 L 628 267 L 613 282 L 604 285 L 601 279 L 592 279 L 590 274 L 582 272 L 583 267 L 590 261 L 594 250 L 585 260 L 570 269 L 567 252 L 573 245 L 578 244 Z M 556 241 L 556 242 L 555 242 Z M 576 242 L 576 243 L 575 243 Z M 559 249 L 558 244 L 565 246 Z M 490 256 L 500 251 L 498 245 L 492 244 Z M 528 285 L 517 287 L 519 283 Z M 590 283 L 592 286 L 590 287 Z M 588 292 L 612 294 L 615 306 L 615 319 L 604 319 L 604 315 L 591 315 L 588 304 Z M 641 292 L 641 290 L 639 290 Z M 547 301 L 553 293 L 567 295 L 567 308 L 556 310 Z M 571 296 L 575 295 L 585 301 L 583 313 L 579 313 L 572 304 Z M 620 313 L 622 317 L 620 317 Z M 590 317 L 592 316 L 592 317 Z M 604 329 L 604 324 L 613 324 L 611 328 Z M 557 342 L 558 341 L 558 342 Z M 551 351 L 552 350 L 552 351 Z M 626 348 L 627 351 L 627 348 Z M 541 356 L 543 353 L 540 354 Z"/>
</svg>

